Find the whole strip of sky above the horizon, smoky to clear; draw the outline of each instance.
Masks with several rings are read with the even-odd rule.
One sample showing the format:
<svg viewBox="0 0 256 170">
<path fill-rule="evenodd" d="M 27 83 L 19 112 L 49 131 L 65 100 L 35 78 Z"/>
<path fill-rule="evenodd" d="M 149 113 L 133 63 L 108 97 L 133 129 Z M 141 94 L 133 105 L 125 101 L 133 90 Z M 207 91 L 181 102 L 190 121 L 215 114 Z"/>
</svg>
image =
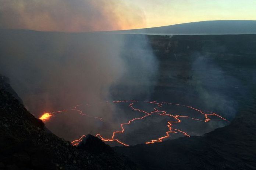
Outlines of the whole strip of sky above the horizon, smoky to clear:
<svg viewBox="0 0 256 170">
<path fill-rule="evenodd" d="M 87 32 L 256 20 L 256 0 L 0 0 L 1 29 Z"/>
</svg>

